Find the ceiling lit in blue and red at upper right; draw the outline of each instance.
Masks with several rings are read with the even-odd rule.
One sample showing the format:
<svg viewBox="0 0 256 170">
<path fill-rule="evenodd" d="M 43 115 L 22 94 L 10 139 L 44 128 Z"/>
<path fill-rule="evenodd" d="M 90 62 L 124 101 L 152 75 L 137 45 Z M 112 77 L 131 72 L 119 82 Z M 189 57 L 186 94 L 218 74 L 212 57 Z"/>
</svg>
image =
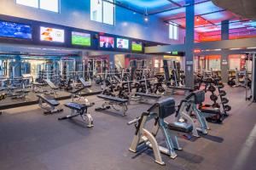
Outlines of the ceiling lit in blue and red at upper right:
<svg viewBox="0 0 256 170">
<path fill-rule="evenodd" d="M 216 37 L 219 39 L 220 23 L 223 20 L 230 20 L 230 38 L 256 37 L 256 21 L 251 20 L 252 17 L 247 17 L 253 16 L 253 13 L 256 15 L 255 8 L 247 13 L 244 13 L 245 8 L 239 12 L 230 12 L 231 9 L 240 8 L 241 4 L 248 7 L 248 3 L 241 3 L 245 1 L 255 2 L 255 0 L 195 0 L 194 4 L 190 3 L 190 5 L 195 5 L 195 31 L 200 34 L 201 40 L 211 40 L 207 37 L 208 32 L 215 33 L 213 39 Z M 148 14 L 149 20 L 150 16 L 154 15 L 166 23 L 173 22 L 182 28 L 186 27 L 185 6 L 189 4 L 186 3 L 186 0 L 116 0 L 116 3 L 130 8 L 134 12 Z M 220 3 L 219 6 L 224 8 L 218 7 L 215 3 Z M 256 6 L 255 4 L 254 6 Z M 245 14 L 245 16 L 241 16 L 241 14 Z"/>
</svg>

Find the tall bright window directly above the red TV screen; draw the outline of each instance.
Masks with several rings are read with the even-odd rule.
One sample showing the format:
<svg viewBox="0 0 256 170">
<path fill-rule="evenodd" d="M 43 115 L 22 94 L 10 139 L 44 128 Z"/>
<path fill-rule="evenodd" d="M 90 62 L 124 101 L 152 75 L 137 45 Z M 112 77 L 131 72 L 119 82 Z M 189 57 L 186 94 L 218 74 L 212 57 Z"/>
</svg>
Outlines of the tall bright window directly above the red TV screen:
<svg viewBox="0 0 256 170">
<path fill-rule="evenodd" d="M 90 0 L 90 20 L 114 25 L 114 0 Z"/>
</svg>

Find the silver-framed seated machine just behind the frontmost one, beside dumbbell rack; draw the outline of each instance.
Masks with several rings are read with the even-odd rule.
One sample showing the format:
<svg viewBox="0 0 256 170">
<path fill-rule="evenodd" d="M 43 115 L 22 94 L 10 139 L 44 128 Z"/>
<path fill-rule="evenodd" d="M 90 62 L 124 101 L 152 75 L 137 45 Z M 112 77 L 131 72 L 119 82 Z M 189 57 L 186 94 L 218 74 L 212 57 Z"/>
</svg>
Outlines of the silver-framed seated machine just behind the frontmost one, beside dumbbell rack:
<svg viewBox="0 0 256 170">
<path fill-rule="evenodd" d="M 205 101 L 205 92 L 197 90 L 189 94 L 185 99 L 180 102 L 177 109 L 177 122 L 186 121 L 193 126 L 193 136 L 200 137 L 197 131 L 207 134 L 210 127 L 207 124 L 207 117 L 221 115 L 221 112 L 216 108 L 206 108 L 199 110 L 198 105 Z M 193 117 L 195 117 L 200 127 L 195 126 Z"/>
</svg>

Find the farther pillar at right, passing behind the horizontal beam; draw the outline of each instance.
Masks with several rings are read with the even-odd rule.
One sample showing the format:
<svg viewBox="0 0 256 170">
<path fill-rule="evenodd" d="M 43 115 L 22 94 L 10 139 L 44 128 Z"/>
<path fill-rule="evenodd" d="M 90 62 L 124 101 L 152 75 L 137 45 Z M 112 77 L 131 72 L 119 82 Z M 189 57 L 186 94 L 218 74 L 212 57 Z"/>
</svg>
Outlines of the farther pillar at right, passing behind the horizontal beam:
<svg viewBox="0 0 256 170">
<path fill-rule="evenodd" d="M 230 24 L 229 20 L 223 20 L 221 22 L 221 40 L 229 40 L 230 37 Z M 229 80 L 229 54 L 226 53 L 228 49 L 222 49 L 220 68 L 221 68 L 221 77 L 223 82 L 228 82 Z"/>
</svg>

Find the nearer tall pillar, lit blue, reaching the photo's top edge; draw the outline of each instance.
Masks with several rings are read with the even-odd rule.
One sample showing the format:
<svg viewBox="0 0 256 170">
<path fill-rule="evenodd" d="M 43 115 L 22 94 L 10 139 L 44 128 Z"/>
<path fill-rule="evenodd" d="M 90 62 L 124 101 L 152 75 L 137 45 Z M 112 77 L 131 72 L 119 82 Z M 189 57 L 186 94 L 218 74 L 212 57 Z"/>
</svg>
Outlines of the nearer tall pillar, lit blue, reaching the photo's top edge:
<svg viewBox="0 0 256 170">
<path fill-rule="evenodd" d="M 195 34 L 195 0 L 186 0 L 186 42 L 185 42 L 185 85 L 194 88 L 194 34 Z M 189 5 L 192 4 L 192 5 Z"/>
</svg>

